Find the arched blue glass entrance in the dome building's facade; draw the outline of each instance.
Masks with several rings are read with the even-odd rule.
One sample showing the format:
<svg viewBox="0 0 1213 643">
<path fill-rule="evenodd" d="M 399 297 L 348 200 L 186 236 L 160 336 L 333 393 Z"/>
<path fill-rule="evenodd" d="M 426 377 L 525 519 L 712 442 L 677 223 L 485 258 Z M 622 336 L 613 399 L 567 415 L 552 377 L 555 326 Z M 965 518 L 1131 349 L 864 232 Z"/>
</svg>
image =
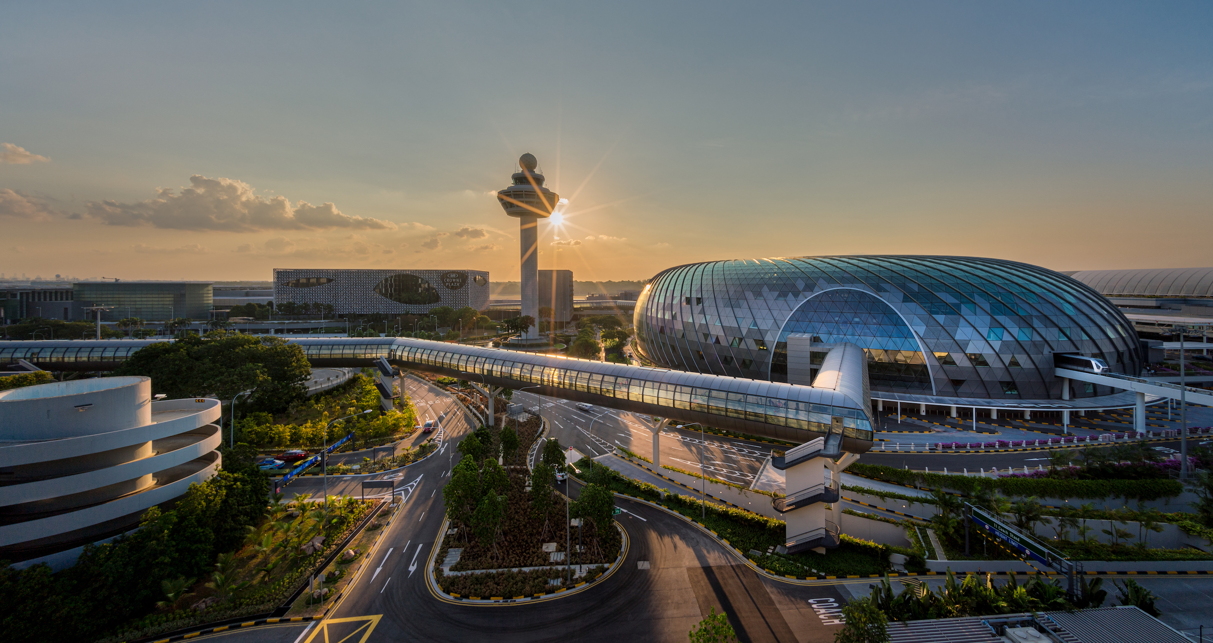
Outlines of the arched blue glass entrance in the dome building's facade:
<svg viewBox="0 0 1213 643">
<path fill-rule="evenodd" d="M 771 381 L 787 381 L 787 336 L 792 334 L 809 335 L 814 343 L 858 345 L 867 354 L 872 388 L 935 394 L 922 341 L 900 313 L 871 292 L 824 290 L 797 307 L 779 331 L 771 354 Z M 826 352 L 811 353 L 810 362 L 820 364 Z"/>
</svg>

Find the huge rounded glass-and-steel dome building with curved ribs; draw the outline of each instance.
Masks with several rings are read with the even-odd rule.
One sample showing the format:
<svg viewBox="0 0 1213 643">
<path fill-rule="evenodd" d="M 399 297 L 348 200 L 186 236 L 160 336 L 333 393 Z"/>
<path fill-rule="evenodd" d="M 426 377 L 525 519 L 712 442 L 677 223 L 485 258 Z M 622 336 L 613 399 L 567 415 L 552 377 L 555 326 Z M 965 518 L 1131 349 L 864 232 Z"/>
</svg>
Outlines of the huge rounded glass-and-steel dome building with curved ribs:
<svg viewBox="0 0 1213 643">
<path fill-rule="evenodd" d="M 1037 266 L 980 257 L 833 256 L 693 263 L 654 277 L 637 349 L 666 368 L 787 381 L 787 337 L 853 342 L 873 397 L 1060 399 L 1054 353 L 1137 375 L 1133 325 L 1099 292 Z M 822 351 L 825 347 L 822 348 Z M 810 353 L 810 362 L 824 352 Z M 1111 394 L 1071 382 L 1069 398 Z"/>
</svg>

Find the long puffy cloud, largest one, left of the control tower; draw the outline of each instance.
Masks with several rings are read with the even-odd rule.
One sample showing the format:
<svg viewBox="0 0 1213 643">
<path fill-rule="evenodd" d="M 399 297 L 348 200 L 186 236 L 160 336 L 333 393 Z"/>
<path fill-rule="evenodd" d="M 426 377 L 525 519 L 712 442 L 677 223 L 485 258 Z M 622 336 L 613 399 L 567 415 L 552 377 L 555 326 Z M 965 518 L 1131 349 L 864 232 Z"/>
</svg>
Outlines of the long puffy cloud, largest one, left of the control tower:
<svg viewBox="0 0 1213 643">
<path fill-rule="evenodd" d="M 342 214 L 331 203 L 312 205 L 286 197 L 258 197 L 252 186 L 232 178 L 189 177 L 181 194 L 161 188 L 138 203 L 89 201 L 89 215 L 110 226 L 153 226 L 183 231 L 395 229 L 377 218 Z"/>
</svg>

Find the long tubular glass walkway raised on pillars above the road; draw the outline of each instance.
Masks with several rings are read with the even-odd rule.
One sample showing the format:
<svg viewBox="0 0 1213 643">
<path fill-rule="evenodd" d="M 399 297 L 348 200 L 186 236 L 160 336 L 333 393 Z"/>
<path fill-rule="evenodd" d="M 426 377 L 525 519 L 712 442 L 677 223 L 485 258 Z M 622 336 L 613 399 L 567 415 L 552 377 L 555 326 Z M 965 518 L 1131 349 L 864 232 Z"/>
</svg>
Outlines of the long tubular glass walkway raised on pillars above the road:
<svg viewBox="0 0 1213 643">
<path fill-rule="evenodd" d="M 286 338 L 286 337 L 284 337 Z M 136 351 L 169 340 L 4 341 L 0 363 L 25 359 L 46 370 L 113 370 Z M 841 450 L 872 446 L 871 404 L 848 392 L 866 391 L 856 380 L 830 388 L 649 366 L 592 362 L 408 337 L 286 338 L 313 366 L 375 366 L 378 358 L 406 368 L 625 411 L 701 422 L 729 431 L 805 443 L 841 437 Z M 864 396 L 859 396 L 864 397 Z"/>
</svg>

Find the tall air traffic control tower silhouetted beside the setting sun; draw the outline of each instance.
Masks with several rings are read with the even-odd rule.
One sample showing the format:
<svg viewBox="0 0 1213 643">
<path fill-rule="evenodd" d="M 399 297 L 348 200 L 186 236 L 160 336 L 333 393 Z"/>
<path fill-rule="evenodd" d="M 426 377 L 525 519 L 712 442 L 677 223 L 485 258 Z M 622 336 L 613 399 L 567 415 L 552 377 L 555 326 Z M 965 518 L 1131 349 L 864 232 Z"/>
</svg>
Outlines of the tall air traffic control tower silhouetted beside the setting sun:
<svg viewBox="0 0 1213 643">
<path fill-rule="evenodd" d="M 539 220 L 552 216 L 560 195 L 543 187 L 543 175 L 535 169 L 539 160 L 534 154 L 518 158 L 519 171 L 514 172 L 513 184 L 497 192 L 501 207 L 512 217 L 518 217 L 518 232 L 522 257 L 522 314 L 539 323 Z M 526 332 L 507 343 L 511 348 L 537 347 L 546 343 L 540 340 L 539 329 L 531 325 Z"/>
</svg>

